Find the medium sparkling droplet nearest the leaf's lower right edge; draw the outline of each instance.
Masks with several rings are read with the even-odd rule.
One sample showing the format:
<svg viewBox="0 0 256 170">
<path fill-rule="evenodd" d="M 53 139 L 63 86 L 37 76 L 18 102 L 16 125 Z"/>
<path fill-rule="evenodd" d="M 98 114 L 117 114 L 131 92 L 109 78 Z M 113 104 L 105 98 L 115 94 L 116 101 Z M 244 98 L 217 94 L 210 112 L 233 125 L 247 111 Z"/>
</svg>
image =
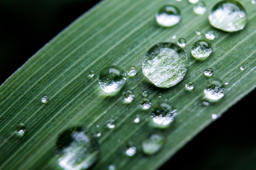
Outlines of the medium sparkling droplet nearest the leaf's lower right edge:
<svg viewBox="0 0 256 170">
<path fill-rule="evenodd" d="M 225 84 L 219 79 L 210 79 L 210 85 L 204 88 L 204 95 L 209 102 L 217 102 L 225 95 Z"/>
</svg>

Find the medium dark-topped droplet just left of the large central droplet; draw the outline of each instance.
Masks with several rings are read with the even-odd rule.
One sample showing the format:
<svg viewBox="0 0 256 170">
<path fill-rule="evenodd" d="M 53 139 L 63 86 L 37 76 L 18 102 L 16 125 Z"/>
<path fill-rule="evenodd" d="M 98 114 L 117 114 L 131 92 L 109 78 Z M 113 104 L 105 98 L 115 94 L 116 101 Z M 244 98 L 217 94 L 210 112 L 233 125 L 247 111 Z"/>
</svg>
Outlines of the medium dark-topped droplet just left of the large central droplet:
<svg viewBox="0 0 256 170">
<path fill-rule="evenodd" d="M 125 82 L 126 73 L 119 66 L 108 66 L 99 74 L 99 85 L 106 93 L 120 90 Z"/>
</svg>

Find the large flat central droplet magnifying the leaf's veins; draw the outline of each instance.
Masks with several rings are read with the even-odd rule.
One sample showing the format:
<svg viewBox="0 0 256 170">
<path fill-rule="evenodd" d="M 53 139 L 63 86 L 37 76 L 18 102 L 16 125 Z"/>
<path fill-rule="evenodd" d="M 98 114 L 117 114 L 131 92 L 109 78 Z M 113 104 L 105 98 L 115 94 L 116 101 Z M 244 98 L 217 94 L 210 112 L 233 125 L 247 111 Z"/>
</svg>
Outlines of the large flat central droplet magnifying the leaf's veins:
<svg viewBox="0 0 256 170">
<path fill-rule="evenodd" d="M 186 52 L 173 42 L 160 42 L 144 56 L 143 74 L 155 86 L 169 88 L 179 83 L 187 71 Z"/>
</svg>

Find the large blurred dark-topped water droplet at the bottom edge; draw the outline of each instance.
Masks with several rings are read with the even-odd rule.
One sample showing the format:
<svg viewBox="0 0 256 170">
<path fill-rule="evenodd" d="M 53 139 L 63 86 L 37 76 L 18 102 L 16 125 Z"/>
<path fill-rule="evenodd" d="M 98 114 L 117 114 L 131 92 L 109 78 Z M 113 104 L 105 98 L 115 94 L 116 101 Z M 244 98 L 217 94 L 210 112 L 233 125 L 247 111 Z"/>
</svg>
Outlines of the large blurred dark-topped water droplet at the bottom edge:
<svg viewBox="0 0 256 170">
<path fill-rule="evenodd" d="M 97 138 L 82 127 L 67 129 L 58 135 L 56 157 L 64 170 L 88 169 L 99 157 Z"/>
</svg>

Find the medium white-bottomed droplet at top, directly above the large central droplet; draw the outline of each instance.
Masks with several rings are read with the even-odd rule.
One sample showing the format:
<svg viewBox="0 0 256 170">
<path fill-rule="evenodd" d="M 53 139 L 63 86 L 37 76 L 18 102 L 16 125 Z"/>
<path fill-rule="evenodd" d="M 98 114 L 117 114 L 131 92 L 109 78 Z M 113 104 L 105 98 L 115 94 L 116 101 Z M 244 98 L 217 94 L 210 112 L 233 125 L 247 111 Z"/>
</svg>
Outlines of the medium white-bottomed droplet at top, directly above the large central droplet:
<svg viewBox="0 0 256 170">
<path fill-rule="evenodd" d="M 164 5 L 155 16 L 157 24 L 163 27 L 176 25 L 181 20 L 180 9 L 173 5 Z"/>
</svg>

